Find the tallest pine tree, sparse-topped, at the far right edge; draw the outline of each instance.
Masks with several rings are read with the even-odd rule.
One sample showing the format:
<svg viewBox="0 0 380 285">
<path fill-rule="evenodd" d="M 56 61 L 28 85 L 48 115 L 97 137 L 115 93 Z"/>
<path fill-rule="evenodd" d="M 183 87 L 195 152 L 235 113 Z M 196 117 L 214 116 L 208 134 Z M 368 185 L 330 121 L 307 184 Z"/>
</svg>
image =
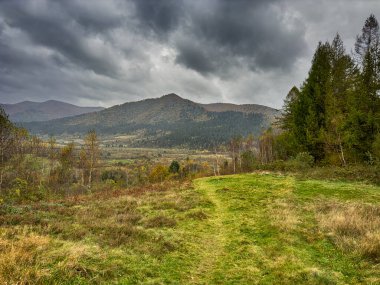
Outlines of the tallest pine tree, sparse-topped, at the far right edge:
<svg viewBox="0 0 380 285">
<path fill-rule="evenodd" d="M 380 33 L 374 15 L 365 21 L 355 53 L 360 75 L 350 98 L 350 142 L 357 157 L 365 158 L 380 131 Z"/>
</svg>

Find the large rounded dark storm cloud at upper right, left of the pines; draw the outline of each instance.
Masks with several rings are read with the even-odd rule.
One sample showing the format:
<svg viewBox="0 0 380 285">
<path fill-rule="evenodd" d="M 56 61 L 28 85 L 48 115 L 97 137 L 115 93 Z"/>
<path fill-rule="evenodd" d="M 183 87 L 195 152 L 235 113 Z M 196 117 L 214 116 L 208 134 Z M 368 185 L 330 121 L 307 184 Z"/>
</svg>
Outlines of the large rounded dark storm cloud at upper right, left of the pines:
<svg viewBox="0 0 380 285">
<path fill-rule="evenodd" d="M 291 67 L 305 49 L 304 29 L 287 27 L 277 1 L 217 1 L 193 17 L 193 39 L 207 39 L 222 59 L 242 58 L 252 70 Z M 183 56 L 183 49 L 179 49 Z M 215 70 L 223 66 L 216 65 Z"/>
</svg>

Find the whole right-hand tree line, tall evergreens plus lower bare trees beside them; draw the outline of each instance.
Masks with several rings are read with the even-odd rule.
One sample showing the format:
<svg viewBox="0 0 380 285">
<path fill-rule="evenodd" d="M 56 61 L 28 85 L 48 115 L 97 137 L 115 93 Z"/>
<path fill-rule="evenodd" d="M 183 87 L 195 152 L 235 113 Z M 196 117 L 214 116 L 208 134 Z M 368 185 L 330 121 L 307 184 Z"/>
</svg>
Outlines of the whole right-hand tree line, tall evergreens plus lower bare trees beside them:
<svg viewBox="0 0 380 285">
<path fill-rule="evenodd" d="M 257 138 L 234 136 L 218 149 L 230 154 L 230 162 L 221 166 L 224 173 L 264 165 L 264 169 L 272 165 L 273 169 L 297 171 L 314 164 L 380 166 L 376 17 L 366 19 L 350 54 L 339 34 L 332 42 L 319 42 L 307 78 L 289 91 L 276 122 Z M 218 164 L 216 155 L 214 165 Z"/>
</svg>

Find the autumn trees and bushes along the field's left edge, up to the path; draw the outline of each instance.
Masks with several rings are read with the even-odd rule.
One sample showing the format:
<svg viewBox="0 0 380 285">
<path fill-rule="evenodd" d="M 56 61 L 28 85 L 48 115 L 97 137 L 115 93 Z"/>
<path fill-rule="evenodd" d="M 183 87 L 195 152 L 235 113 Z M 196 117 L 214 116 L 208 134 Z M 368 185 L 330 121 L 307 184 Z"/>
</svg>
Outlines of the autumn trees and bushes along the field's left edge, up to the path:
<svg viewBox="0 0 380 285">
<path fill-rule="evenodd" d="M 58 144 L 54 137 L 43 141 L 14 125 L 0 107 L 0 206 L 191 179 L 210 169 L 190 158 L 170 165 L 141 159 L 129 166 L 112 165 L 102 156 L 94 130 L 81 144 Z"/>
</svg>

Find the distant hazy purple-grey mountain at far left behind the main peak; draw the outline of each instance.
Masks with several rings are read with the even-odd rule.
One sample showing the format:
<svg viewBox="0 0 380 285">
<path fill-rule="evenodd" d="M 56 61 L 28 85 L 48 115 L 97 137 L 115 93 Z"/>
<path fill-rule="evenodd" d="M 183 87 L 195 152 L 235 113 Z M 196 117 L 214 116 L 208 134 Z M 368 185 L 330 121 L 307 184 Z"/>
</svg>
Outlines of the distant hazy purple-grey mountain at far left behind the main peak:
<svg viewBox="0 0 380 285">
<path fill-rule="evenodd" d="M 104 109 L 102 107 L 79 107 L 55 100 L 46 102 L 24 101 L 16 104 L 0 105 L 13 122 L 48 121 Z"/>
</svg>

